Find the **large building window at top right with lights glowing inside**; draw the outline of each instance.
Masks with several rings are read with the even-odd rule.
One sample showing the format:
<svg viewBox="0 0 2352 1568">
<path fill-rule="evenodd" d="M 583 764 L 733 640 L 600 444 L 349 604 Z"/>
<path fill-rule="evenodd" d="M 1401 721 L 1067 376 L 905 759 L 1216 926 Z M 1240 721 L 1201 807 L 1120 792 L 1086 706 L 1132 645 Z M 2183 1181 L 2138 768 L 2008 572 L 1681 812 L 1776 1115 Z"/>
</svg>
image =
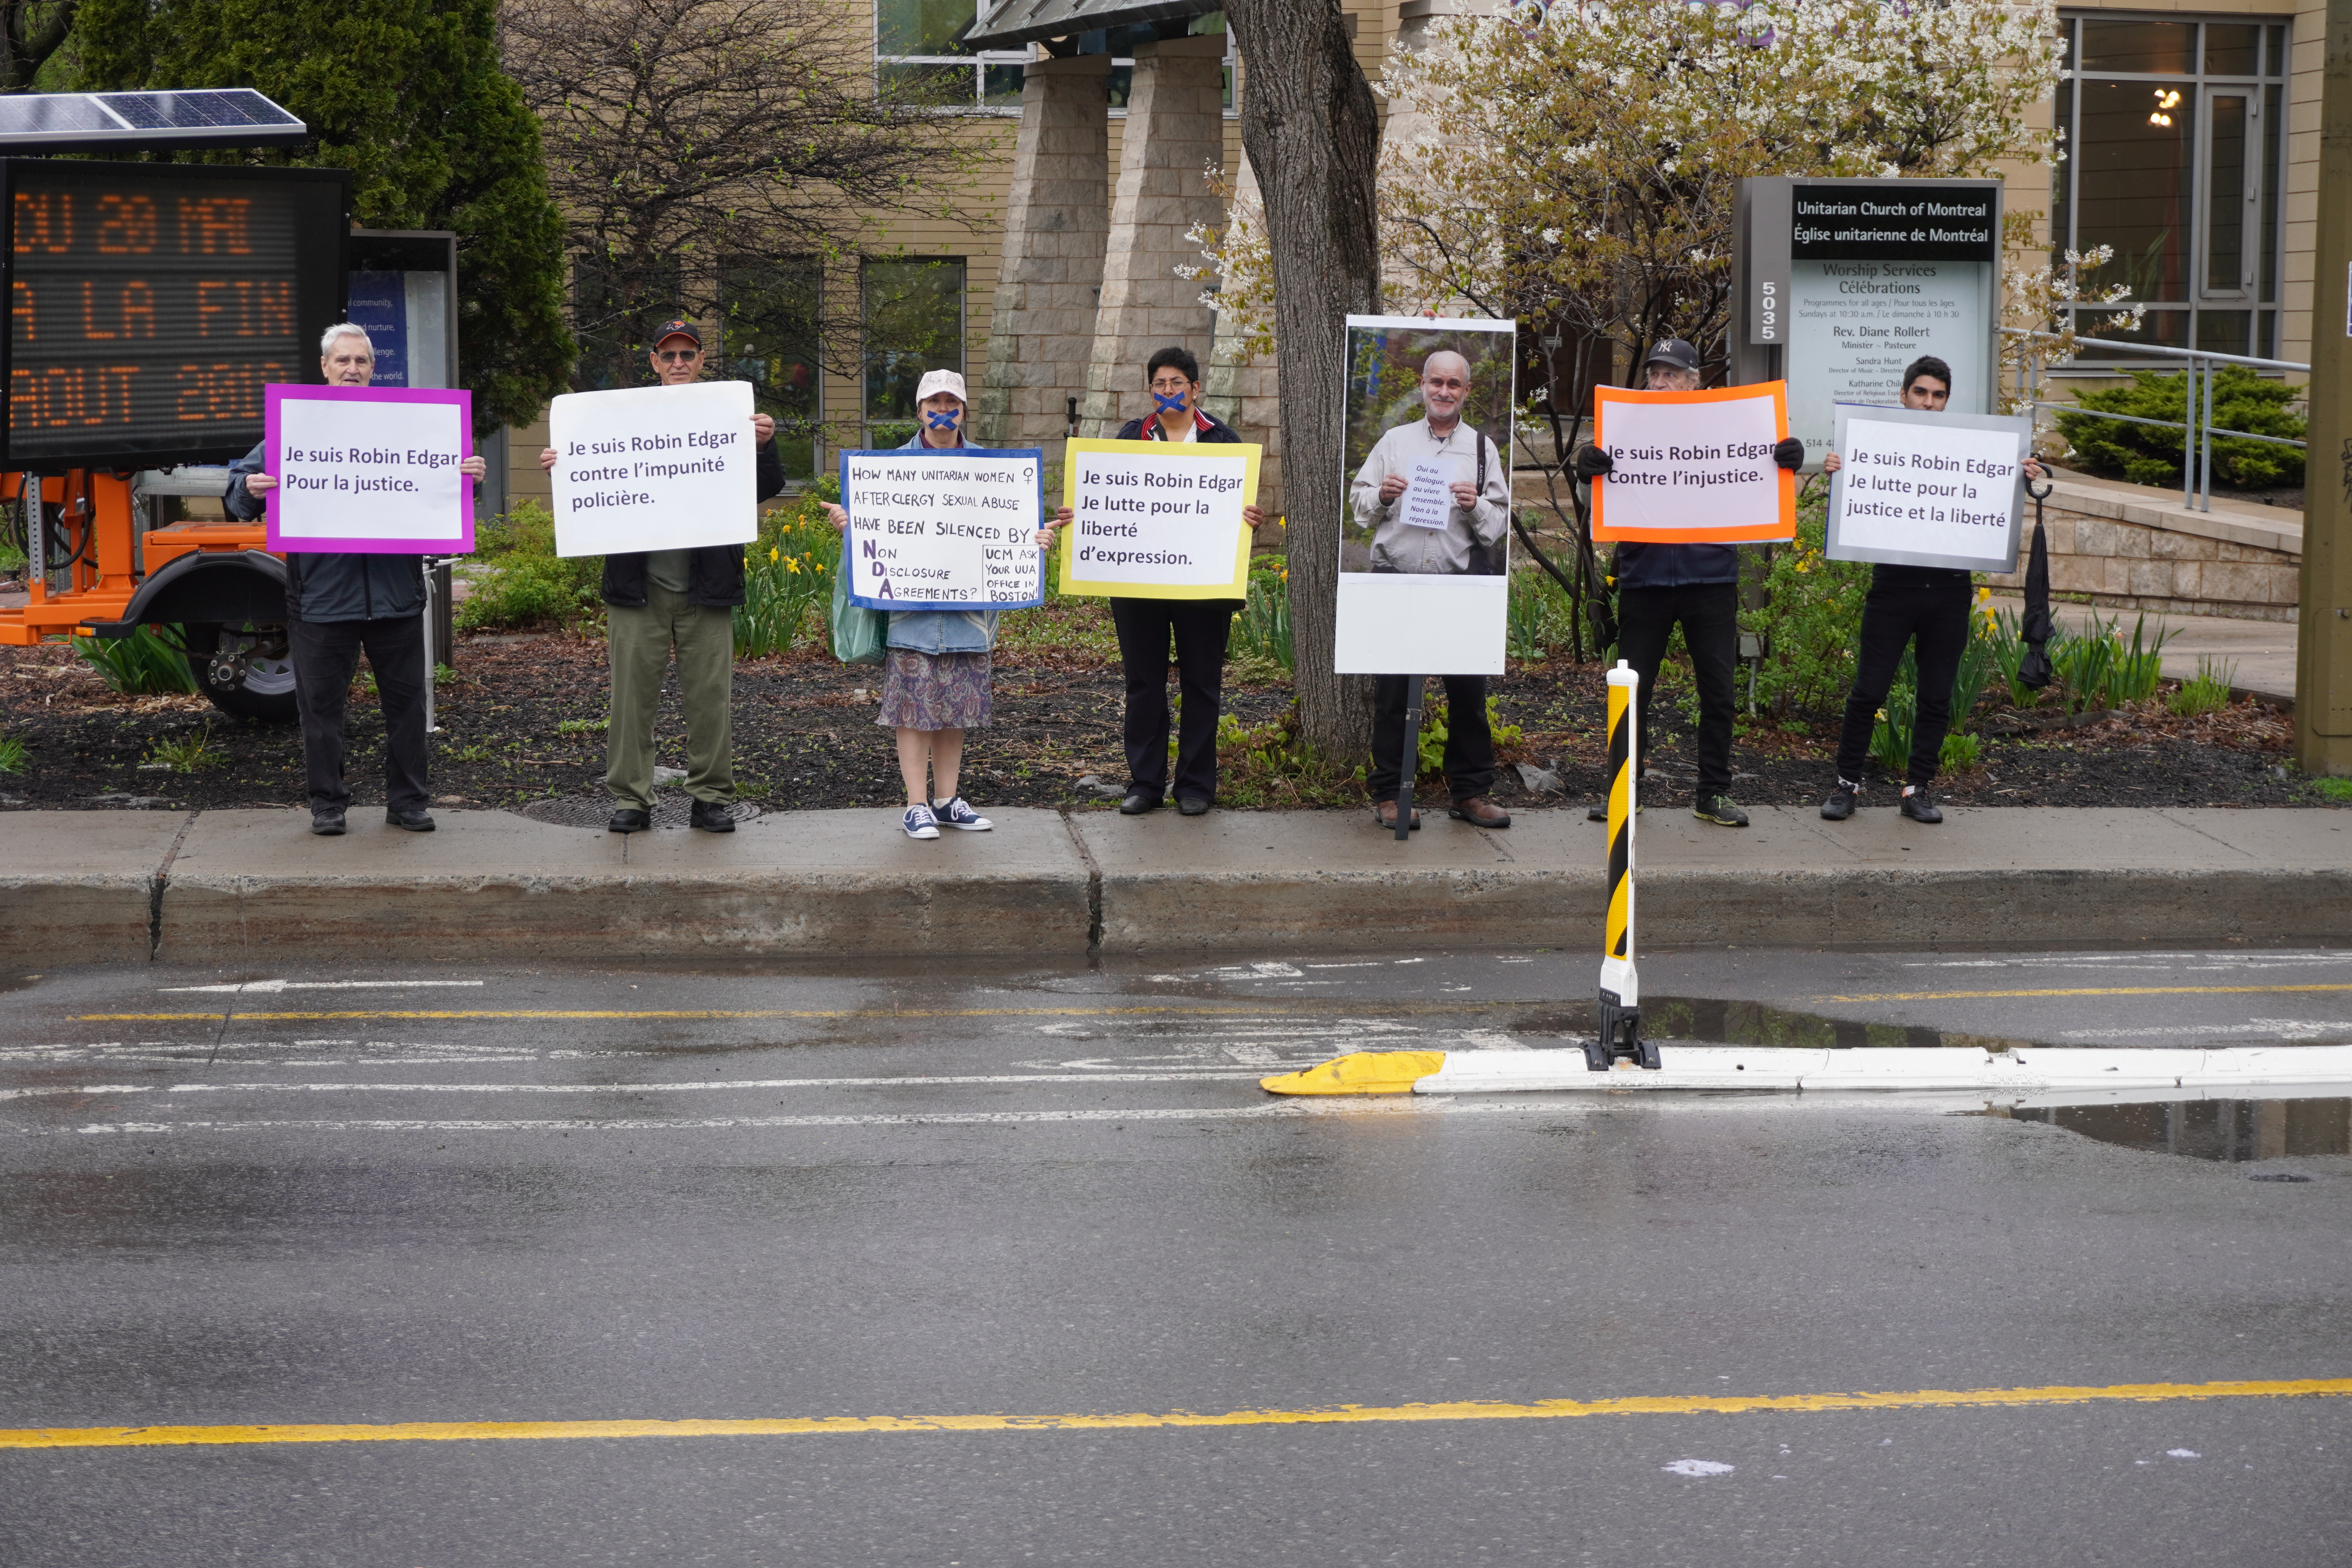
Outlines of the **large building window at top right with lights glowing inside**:
<svg viewBox="0 0 2352 1568">
<path fill-rule="evenodd" d="M 2084 12 L 2060 31 L 2058 263 L 2114 247 L 2093 282 L 2150 308 L 2131 341 L 2274 357 L 2286 24 Z"/>
</svg>

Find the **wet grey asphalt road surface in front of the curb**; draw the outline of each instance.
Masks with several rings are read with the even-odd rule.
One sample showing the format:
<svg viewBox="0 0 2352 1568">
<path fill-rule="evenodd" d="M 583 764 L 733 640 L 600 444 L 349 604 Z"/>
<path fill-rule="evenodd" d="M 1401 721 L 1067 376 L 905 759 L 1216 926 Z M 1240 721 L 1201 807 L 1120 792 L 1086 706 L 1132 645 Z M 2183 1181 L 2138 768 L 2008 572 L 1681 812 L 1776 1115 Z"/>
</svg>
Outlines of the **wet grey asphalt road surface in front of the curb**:
<svg viewBox="0 0 2352 1568">
<path fill-rule="evenodd" d="M 2340 1100 L 1256 1088 L 1559 1046 L 1592 969 L 26 980 L 0 1427 L 2352 1375 Z M 181 990 L 256 980 L 289 985 Z M 1644 985 L 1691 1030 L 1849 1044 L 2352 1041 L 2326 952 L 1665 954 Z M 2136 1147 L 2166 1138 L 2206 1157 Z M 0 1563 L 2336 1566 L 2347 1455 L 2352 1399 L 19 1448 Z"/>
</svg>

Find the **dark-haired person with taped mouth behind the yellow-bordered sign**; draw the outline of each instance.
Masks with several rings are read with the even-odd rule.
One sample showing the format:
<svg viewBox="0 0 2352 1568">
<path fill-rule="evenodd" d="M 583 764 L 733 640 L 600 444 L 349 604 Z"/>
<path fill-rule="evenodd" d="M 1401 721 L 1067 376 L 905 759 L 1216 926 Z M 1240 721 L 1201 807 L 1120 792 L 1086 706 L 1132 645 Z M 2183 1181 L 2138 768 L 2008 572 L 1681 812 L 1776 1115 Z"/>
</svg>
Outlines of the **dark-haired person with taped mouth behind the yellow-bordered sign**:
<svg viewBox="0 0 2352 1568">
<path fill-rule="evenodd" d="M 1232 442 L 1242 437 L 1200 407 L 1200 360 L 1169 346 L 1143 369 L 1152 411 L 1120 425 L 1122 442 Z M 1242 508 L 1256 529 L 1265 512 Z M 1070 508 L 1054 524 L 1070 522 Z M 1120 811 L 1143 816 L 1169 797 L 1169 639 L 1176 642 L 1176 682 L 1183 719 L 1176 731 L 1176 809 L 1200 816 L 1216 799 L 1216 719 L 1225 698 L 1225 637 L 1242 599 L 1136 599 L 1110 595 L 1110 625 L 1120 632 L 1127 675 L 1127 799 Z"/>
</svg>

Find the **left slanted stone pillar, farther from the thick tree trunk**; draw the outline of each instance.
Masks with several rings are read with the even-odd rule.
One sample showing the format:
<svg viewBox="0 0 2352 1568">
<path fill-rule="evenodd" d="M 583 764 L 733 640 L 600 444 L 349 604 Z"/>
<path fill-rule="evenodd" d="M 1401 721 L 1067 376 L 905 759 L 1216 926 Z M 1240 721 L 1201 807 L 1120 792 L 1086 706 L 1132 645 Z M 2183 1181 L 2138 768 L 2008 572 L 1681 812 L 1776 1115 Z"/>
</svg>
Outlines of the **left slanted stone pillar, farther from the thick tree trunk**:
<svg viewBox="0 0 2352 1568">
<path fill-rule="evenodd" d="M 974 395 L 985 447 L 1044 447 L 1061 461 L 1070 397 L 1087 390 L 1094 301 L 1110 221 L 1108 54 L 1030 61 L 1021 80 L 1004 261 Z"/>
</svg>

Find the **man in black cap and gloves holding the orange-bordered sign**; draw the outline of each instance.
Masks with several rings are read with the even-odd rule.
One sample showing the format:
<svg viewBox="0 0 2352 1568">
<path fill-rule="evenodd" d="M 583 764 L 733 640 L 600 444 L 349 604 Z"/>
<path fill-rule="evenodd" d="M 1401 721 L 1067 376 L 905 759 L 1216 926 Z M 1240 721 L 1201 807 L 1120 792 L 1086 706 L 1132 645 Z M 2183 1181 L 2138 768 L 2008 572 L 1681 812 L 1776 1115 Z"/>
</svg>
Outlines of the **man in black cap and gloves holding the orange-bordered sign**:
<svg viewBox="0 0 2352 1568">
<path fill-rule="evenodd" d="M 1665 339 L 1642 362 L 1651 393 L 1696 393 L 1698 350 L 1682 339 Z M 1797 437 L 1773 447 L 1773 463 L 1804 468 L 1804 442 Z M 1599 447 L 1576 454 L 1576 477 L 1606 475 L 1616 463 Z M 1635 719 L 1635 773 L 1651 752 L 1651 698 L 1658 691 L 1658 665 L 1675 628 L 1691 649 L 1691 675 L 1698 682 L 1698 792 L 1691 816 L 1717 827 L 1745 827 L 1748 813 L 1731 802 L 1731 719 L 1736 712 L 1731 670 L 1740 649 L 1740 552 L 1736 545 L 1651 545 L 1625 541 L 1616 548 L 1611 581 L 1618 590 L 1618 658 L 1642 675 Z M 1588 813 L 1606 820 L 1604 806 Z"/>
</svg>

